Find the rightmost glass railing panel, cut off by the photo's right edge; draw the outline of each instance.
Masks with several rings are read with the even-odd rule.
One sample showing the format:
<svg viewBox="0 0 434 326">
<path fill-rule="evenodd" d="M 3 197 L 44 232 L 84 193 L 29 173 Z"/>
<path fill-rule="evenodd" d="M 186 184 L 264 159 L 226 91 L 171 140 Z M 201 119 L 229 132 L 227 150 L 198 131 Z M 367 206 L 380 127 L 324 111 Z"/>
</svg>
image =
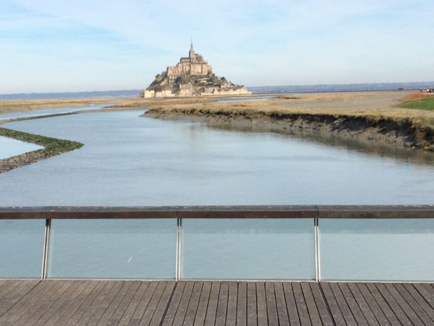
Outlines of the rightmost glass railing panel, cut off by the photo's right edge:
<svg viewBox="0 0 434 326">
<path fill-rule="evenodd" d="M 320 219 L 323 280 L 434 280 L 434 219 Z"/>
</svg>

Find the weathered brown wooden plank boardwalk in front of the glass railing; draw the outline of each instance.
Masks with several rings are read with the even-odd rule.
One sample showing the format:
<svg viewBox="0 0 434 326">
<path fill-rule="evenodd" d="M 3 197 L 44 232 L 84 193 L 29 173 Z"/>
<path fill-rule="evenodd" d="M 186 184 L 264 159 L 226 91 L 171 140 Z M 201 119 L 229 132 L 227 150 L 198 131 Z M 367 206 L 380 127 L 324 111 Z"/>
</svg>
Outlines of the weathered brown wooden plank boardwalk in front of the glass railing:
<svg viewBox="0 0 434 326">
<path fill-rule="evenodd" d="M 434 325 L 434 285 L 0 280 L 1 326 Z"/>
</svg>

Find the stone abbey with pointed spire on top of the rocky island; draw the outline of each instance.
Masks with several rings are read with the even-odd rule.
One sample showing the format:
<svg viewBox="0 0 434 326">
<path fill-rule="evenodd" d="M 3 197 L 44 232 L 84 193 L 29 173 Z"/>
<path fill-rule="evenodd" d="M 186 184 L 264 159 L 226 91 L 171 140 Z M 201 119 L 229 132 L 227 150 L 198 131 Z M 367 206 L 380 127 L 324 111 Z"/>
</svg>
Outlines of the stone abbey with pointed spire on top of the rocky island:
<svg viewBox="0 0 434 326">
<path fill-rule="evenodd" d="M 181 57 L 178 64 L 174 67 L 167 67 L 167 84 L 174 85 L 176 78 L 188 77 L 192 75 L 205 76 L 212 74 L 212 68 L 204 60 L 202 55 L 195 53 L 193 41 L 191 42 L 188 57 Z"/>
</svg>

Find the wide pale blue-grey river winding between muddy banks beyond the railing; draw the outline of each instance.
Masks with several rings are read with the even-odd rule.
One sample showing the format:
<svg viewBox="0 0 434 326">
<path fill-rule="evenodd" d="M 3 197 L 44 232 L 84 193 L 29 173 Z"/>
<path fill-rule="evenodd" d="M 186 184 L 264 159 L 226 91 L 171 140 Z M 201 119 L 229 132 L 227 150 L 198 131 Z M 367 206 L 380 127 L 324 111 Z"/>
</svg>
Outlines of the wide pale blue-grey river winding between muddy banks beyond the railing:
<svg viewBox="0 0 434 326">
<path fill-rule="evenodd" d="M 434 203 L 434 154 L 142 113 L 3 125 L 85 146 L 1 174 L 0 206 Z"/>
</svg>

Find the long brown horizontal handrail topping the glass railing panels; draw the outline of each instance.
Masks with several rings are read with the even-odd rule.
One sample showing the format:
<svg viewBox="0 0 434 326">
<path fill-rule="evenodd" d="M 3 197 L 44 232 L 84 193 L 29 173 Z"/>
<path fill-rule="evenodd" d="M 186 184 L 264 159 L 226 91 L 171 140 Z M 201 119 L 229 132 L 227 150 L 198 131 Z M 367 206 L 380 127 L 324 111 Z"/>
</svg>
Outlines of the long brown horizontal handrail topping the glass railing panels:
<svg viewBox="0 0 434 326">
<path fill-rule="evenodd" d="M 0 207 L 0 219 L 426 219 L 434 205 Z"/>
</svg>

